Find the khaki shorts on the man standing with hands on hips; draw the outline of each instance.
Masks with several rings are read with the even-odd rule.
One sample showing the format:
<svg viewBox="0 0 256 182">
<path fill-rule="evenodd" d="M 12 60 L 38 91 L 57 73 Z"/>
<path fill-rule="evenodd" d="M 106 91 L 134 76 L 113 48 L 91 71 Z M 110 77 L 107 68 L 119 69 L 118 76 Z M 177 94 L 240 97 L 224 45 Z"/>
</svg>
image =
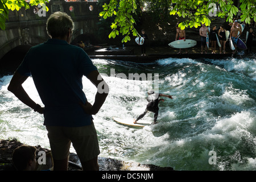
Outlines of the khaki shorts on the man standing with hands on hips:
<svg viewBox="0 0 256 182">
<path fill-rule="evenodd" d="M 81 127 L 46 126 L 52 158 L 63 160 L 69 156 L 71 143 L 81 162 L 96 158 L 100 154 L 96 129 L 92 125 Z"/>
</svg>

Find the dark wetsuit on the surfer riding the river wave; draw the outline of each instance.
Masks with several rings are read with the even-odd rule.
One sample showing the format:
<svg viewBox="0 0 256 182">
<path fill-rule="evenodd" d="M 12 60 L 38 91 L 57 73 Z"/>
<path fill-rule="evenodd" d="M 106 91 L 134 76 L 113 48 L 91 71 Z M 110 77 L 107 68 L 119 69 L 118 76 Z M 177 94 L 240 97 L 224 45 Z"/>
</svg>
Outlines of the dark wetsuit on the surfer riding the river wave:
<svg viewBox="0 0 256 182">
<path fill-rule="evenodd" d="M 151 111 L 152 113 L 155 113 L 154 115 L 154 123 L 156 123 L 156 119 L 158 118 L 158 111 L 159 111 L 159 94 L 160 93 L 154 93 L 154 94 L 150 94 L 147 97 L 147 107 L 146 110 L 144 111 L 144 113 L 142 113 L 141 115 L 139 115 L 139 117 L 136 119 L 136 121 L 138 121 L 139 119 L 143 118 L 144 115 L 147 114 L 147 111 Z"/>
</svg>

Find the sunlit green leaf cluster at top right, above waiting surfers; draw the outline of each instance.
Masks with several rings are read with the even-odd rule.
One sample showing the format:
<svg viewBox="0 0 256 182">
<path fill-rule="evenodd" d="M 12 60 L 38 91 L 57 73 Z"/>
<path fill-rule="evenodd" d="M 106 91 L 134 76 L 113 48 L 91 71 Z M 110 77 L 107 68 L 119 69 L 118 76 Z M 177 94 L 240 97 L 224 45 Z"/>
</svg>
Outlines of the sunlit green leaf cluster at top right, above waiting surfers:
<svg viewBox="0 0 256 182">
<path fill-rule="evenodd" d="M 232 0 L 174 0 L 173 7 L 170 10 L 170 15 L 177 15 L 189 20 L 189 23 L 181 22 L 181 29 L 185 27 L 197 28 L 199 24 L 205 23 L 205 26 L 210 25 L 209 16 L 218 16 L 225 18 L 228 22 L 232 22 L 233 16 L 237 15 L 238 7 Z M 216 11 L 218 5 L 218 11 Z M 240 0 L 241 21 L 250 24 L 250 20 L 256 20 L 256 0 Z M 188 13 L 189 12 L 189 13 Z"/>
</svg>

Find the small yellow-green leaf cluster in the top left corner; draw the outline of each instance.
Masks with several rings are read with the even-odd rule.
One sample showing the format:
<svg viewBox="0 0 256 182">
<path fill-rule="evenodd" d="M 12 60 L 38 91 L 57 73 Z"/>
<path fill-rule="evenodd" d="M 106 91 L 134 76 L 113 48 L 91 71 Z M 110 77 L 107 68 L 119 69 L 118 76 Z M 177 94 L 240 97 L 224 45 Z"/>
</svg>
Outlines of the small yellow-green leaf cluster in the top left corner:
<svg viewBox="0 0 256 182">
<path fill-rule="evenodd" d="M 48 0 L 31 0 L 29 3 L 31 6 L 37 6 L 40 4 L 43 7 L 43 10 L 48 11 L 48 7 L 46 6 L 47 2 Z M 19 11 L 22 7 L 25 9 L 30 8 L 28 2 L 25 0 L 0 0 L 0 28 L 2 30 L 5 30 L 5 22 L 6 19 L 8 19 L 9 10 Z"/>
</svg>

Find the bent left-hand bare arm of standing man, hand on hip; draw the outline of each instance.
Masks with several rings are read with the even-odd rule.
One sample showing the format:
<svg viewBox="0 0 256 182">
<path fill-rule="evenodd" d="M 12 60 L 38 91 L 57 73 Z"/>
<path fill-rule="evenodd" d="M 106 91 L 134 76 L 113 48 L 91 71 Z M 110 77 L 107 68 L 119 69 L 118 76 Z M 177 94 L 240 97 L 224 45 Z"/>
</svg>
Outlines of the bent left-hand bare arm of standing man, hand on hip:
<svg viewBox="0 0 256 182">
<path fill-rule="evenodd" d="M 11 78 L 8 90 L 12 92 L 20 101 L 22 101 L 27 106 L 31 107 L 40 114 L 43 114 L 44 107 L 36 104 L 28 96 L 27 92 L 24 90 L 22 84 L 26 81 L 28 76 L 20 75 L 20 73 L 15 72 L 13 78 Z"/>
</svg>

